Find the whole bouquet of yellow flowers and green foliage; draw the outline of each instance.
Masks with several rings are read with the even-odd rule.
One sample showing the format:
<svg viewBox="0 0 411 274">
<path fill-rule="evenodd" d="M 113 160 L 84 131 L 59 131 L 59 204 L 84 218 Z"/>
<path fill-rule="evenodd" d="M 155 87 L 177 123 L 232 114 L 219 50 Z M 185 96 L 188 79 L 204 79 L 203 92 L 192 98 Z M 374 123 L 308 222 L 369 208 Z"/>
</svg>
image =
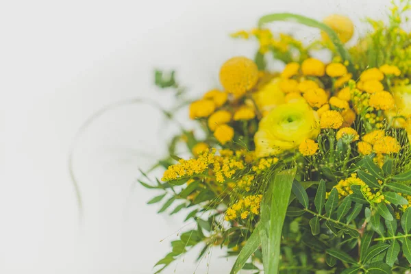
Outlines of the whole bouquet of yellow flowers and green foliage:
<svg viewBox="0 0 411 274">
<path fill-rule="evenodd" d="M 197 129 L 182 128 L 150 170 L 165 169 L 162 178 L 139 180 L 162 191 L 148 202 L 162 203 L 159 212 L 190 209 L 186 221 L 197 224 L 171 242 L 157 273 L 196 245 L 199 259 L 225 247 L 232 273 L 410 273 L 410 8 L 402 0 L 388 23 L 368 18 L 373 30 L 351 47 L 353 23 L 336 14 L 269 14 L 232 34 L 259 43 L 255 59 L 222 64 L 221 88 L 190 102 Z M 303 45 L 271 32 L 274 21 L 319 28 L 321 38 Z M 329 62 L 312 57 L 319 49 Z M 272 58 L 282 71 L 266 69 Z M 155 83 L 184 105 L 174 73 L 156 71 Z M 190 158 L 176 155 L 181 145 Z"/>
</svg>

